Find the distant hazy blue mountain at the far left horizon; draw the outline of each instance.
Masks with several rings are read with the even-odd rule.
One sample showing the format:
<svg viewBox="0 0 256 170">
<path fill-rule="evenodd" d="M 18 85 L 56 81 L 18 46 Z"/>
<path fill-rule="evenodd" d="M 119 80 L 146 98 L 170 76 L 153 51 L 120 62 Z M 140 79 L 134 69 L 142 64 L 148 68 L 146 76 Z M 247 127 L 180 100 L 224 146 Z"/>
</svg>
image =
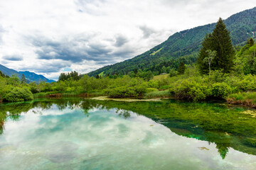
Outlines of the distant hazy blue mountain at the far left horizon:
<svg viewBox="0 0 256 170">
<path fill-rule="evenodd" d="M 13 74 L 16 74 L 16 75 L 18 75 L 19 78 L 21 78 L 21 75 L 24 74 L 24 76 L 26 77 L 26 80 L 28 82 L 32 82 L 32 81 L 36 81 L 36 82 L 46 81 L 48 83 L 51 83 L 51 82 L 54 81 L 54 80 L 47 79 L 43 75 L 38 75 L 38 74 L 33 73 L 33 72 L 28 72 L 28 71 L 26 71 L 26 72 L 17 72 L 16 70 L 4 67 L 1 64 L 0 64 L 0 71 L 3 74 L 8 75 L 9 77 L 11 77 L 11 75 L 13 75 Z"/>
</svg>

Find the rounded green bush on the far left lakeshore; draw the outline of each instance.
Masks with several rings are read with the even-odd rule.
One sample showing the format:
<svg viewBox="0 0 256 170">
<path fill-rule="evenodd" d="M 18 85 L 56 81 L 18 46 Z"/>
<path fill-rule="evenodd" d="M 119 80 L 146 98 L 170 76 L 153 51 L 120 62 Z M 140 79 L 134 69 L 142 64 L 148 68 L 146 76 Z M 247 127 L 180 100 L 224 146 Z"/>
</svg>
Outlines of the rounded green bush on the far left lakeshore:
<svg viewBox="0 0 256 170">
<path fill-rule="evenodd" d="M 33 94 L 26 88 L 15 87 L 9 91 L 4 97 L 5 101 L 31 101 L 33 100 Z"/>
</svg>

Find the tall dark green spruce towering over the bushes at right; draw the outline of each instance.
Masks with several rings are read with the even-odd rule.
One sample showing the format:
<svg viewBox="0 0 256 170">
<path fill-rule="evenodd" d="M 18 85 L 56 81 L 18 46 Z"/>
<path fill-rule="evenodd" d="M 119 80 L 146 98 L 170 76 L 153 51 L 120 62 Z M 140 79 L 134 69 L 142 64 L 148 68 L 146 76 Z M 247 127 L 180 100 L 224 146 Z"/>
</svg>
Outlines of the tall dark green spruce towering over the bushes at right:
<svg viewBox="0 0 256 170">
<path fill-rule="evenodd" d="M 207 50 L 216 51 L 216 57 L 213 59 L 211 69 L 222 69 L 223 72 L 228 73 L 233 67 L 233 58 L 235 50 L 232 45 L 230 32 L 223 23 L 222 18 L 218 20 L 213 33 L 206 35 L 202 42 L 203 47 L 199 52 L 198 68 L 201 74 L 208 74 L 209 69 L 206 62 L 203 62 L 208 57 Z"/>
</svg>

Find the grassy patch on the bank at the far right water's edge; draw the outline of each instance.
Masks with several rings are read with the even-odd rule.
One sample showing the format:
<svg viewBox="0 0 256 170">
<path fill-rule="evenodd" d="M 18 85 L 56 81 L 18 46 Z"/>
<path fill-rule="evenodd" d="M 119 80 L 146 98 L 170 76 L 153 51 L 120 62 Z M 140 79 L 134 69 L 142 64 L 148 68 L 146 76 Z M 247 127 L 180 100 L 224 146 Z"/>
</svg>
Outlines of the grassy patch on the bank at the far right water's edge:
<svg viewBox="0 0 256 170">
<path fill-rule="evenodd" d="M 230 94 L 227 99 L 232 99 L 234 101 L 249 101 L 252 104 L 256 104 L 256 92 L 242 92 L 238 94 Z"/>
</svg>

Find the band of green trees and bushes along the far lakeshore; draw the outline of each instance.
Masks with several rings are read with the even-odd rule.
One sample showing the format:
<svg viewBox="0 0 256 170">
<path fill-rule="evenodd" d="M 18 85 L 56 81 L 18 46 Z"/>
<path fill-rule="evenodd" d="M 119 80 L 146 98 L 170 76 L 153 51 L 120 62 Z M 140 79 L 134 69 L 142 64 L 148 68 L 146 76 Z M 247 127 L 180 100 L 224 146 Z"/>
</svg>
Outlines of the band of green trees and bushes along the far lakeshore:
<svg viewBox="0 0 256 170">
<path fill-rule="evenodd" d="M 1 101 L 28 101 L 50 96 L 109 96 L 110 98 L 171 97 L 186 101 L 226 100 L 256 104 L 256 45 L 253 38 L 234 47 L 220 18 L 201 42 L 200 52 L 159 62 L 150 69 L 135 68 L 126 74 L 62 73 L 58 81 L 24 81 L 0 73 Z M 155 79 L 164 73 L 168 77 Z M 255 92 L 254 92 L 255 91 Z"/>
</svg>

